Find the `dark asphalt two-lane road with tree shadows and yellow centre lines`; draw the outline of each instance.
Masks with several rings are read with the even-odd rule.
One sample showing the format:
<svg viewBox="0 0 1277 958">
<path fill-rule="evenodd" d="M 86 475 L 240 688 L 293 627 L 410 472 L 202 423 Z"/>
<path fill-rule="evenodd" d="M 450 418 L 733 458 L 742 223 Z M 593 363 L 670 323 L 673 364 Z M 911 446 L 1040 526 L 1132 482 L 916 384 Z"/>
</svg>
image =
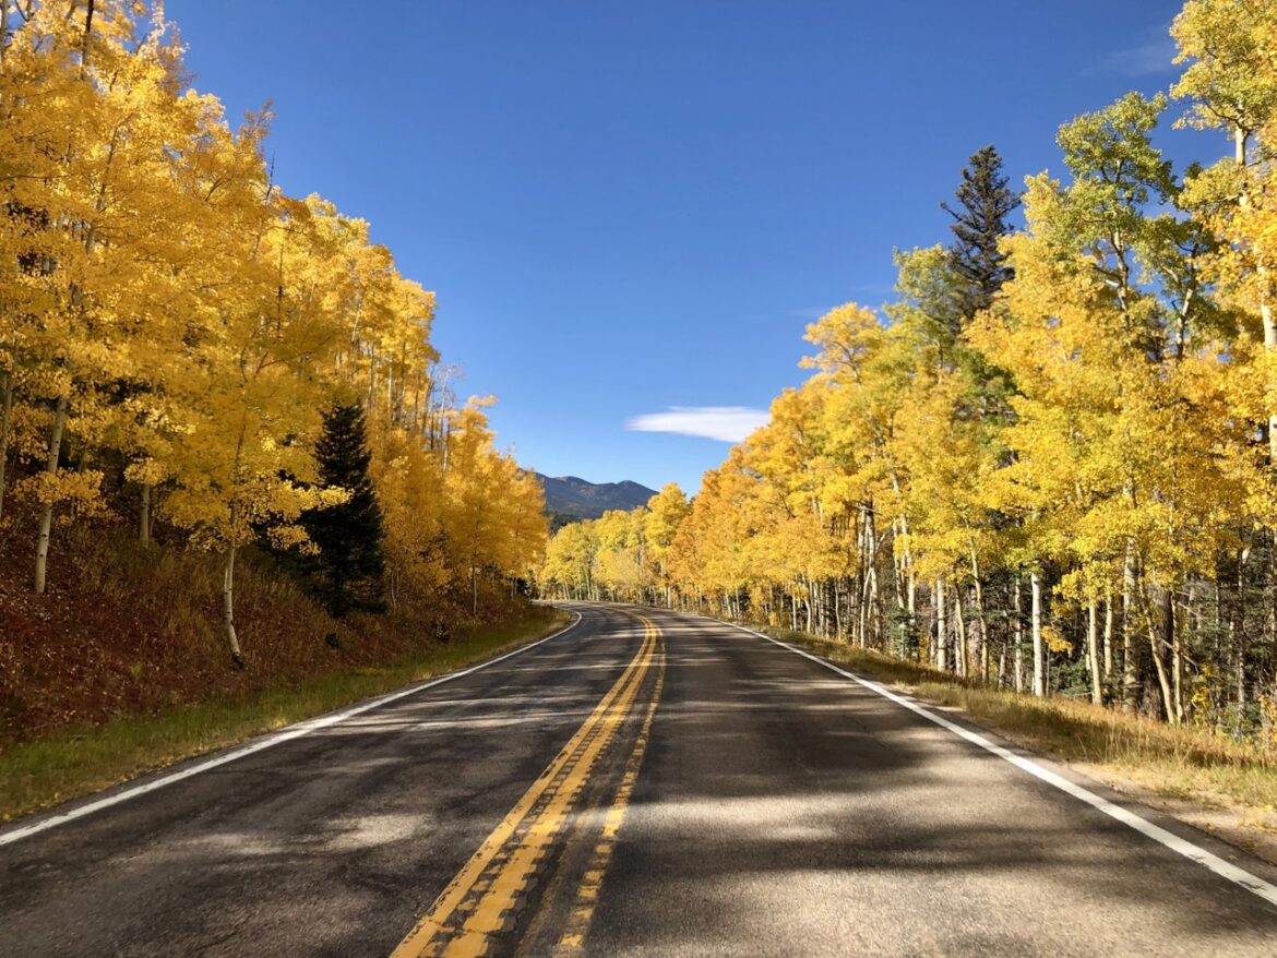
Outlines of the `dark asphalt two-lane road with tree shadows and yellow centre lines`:
<svg viewBox="0 0 1277 958">
<path fill-rule="evenodd" d="M 573 608 L 469 674 L 0 832 L 0 954 L 1277 954 L 1277 874 L 1240 851 L 732 626 Z"/>
</svg>

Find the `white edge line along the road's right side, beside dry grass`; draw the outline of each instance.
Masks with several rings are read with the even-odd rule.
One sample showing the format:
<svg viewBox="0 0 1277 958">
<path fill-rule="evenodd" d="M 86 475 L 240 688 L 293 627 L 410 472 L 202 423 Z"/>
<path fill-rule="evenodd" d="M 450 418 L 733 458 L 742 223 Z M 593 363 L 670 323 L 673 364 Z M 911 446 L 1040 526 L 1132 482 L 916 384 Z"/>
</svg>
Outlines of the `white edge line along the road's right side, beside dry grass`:
<svg viewBox="0 0 1277 958">
<path fill-rule="evenodd" d="M 715 621 L 722 621 L 722 620 L 715 620 Z M 1165 828 L 1154 825 L 1152 821 L 1148 821 L 1147 819 L 1142 819 L 1139 815 L 1135 815 L 1134 812 L 1121 807 L 1120 805 L 1115 805 L 1107 798 L 1103 798 L 1074 782 L 1070 782 L 1062 775 L 1059 775 L 1055 772 L 1051 772 L 1050 769 L 1038 765 L 1036 761 L 1031 761 L 1029 759 L 1025 759 L 1022 755 L 1016 755 L 1015 752 L 1009 751 L 1008 749 L 1004 749 L 1002 746 L 988 741 L 987 738 L 985 738 L 985 736 L 978 734 L 977 732 L 972 732 L 968 728 L 963 728 L 955 722 L 950 722 L 945 717 L 937 715 L 930 709 L 923 708 L 918 703 L 911 701 L 903 695 L 898 695 L 896 692 L 893 692 L 890 688 L 877 682 L 871 682 L 867 678 L 861 678 L 859 676 L 853 674 L 852 672 L 847 672 L 845 669 L 839 668 L 831 662 L 826 662 L 819 655 L 812 655 L 810 651 L 806 651 L 805 649 L 798 649 L 790 645 L 789 642 L 783 642 L 779 639 L 773 639 L 770 635 L 766 635 L 765 632 L 756 632 L 752 628 L 738 626 L 734 622 L 728 622 L 727 625 L 730 625 L 733 628 L 739 628 L 742 632 L 756 635 L 760 639 L 766 639 L 769 642 L 779 645 L 782 649 L 788 649 L 796 655 L 802 655 L 805 659 L 811 659 L 817 665 L 824 665 L 831 672 L 836 672 L 838 674 L 843 676 L 843 678 L 852 680 L 857 685 L 868 688 L 871 692 L 877 692 L 884 699 L 890 699 L 896 705 L 903 705 L 909 711 L 921 715 L 928 722 L 933 722 L 941 728 L 949 729 L 955 736 L 965 738 L 972 745 L 978 745 L 985 751 L 992 752 L 1000 759 L 1005 759 L 1016 768 L 1029 773 L 1034 778 L 1046 782 L 1048 786 L 1054 786 L 1055 788 L 1059 788 L 1061 792 L 1068 792 L 1074 798 L 1085 802 L 1091 807 L 1102 811 L 1105 815 L 1108 815 L 1110 817 L 1117 819 L 1117 821 L 1135 829 L 1142 835 L 1152 838 L 1154 842 L 1166 846 L 1172 852 L 1177 852 L 1179 855 L 1183 855 L 1185 858 L 1189 858 L 1190 861 L 1195 861 L 1198 865 L 1204 865 L 1220 878 L 1227 879 L 1228 881 L 1232 881 L 1235 885 L 1240 885 L 1248 892 L 1259 895 L 1272 906 L 1277 906 L 1277 885 L 1272 885 L 1271 883 L 1264 881 L 1258 875 L 1251 875 L 1245 869 L 1239 869 L 1232 862 L 1225 861 L 1218 855 L 1213 855 L 1208 852 L 1205 848 L 1200 848 L 1193 844 L 1191 842 L 1180 838 L 1172 832 L 1167 832 Z"/>
</svg>

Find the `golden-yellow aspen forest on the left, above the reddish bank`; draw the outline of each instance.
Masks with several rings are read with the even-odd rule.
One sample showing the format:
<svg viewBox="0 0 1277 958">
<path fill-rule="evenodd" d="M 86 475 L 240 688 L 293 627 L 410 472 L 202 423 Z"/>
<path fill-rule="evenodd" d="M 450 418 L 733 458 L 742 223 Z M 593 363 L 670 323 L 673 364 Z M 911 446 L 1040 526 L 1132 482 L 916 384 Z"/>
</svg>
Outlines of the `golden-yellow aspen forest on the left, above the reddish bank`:
<svg viewBox="0 0 1277 958">
<path fill-rule="evenodd" d="M 241 667 L 271 641 L 236 618 L 245 551 L 336 618 L 508 602 L 541 488 L 494 446 L 492 400 L 456 400 L 434 294 L 368 222 L 280 189 L 269 114 L 232 125 L 190 87 L 161 4 L 0 15 L 0 538 L 45 603 L 23 608 L 65 599 L 61 545 L 121 530 L 217 557 Z"/>
</svg>

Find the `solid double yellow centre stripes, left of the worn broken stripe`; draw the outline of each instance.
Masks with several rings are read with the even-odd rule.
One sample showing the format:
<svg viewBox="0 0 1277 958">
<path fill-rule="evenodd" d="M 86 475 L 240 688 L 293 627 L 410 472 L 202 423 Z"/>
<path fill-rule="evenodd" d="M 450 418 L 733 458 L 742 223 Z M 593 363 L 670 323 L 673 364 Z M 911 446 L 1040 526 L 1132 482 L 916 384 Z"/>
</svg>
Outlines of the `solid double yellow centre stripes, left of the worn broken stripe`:
<svg viewBox="0 0 1277 958">
<path fill-rule="evenodd" d="M 595 761 L 630 714 L 656 658 L 660 630 L 647 617 L 638 618 L 645 630 L 642 645 L 621 678 L 391 958 L 481 955 L 490 936 L 502 930 L 507 912 L 572 812 Z"/>
</svg>

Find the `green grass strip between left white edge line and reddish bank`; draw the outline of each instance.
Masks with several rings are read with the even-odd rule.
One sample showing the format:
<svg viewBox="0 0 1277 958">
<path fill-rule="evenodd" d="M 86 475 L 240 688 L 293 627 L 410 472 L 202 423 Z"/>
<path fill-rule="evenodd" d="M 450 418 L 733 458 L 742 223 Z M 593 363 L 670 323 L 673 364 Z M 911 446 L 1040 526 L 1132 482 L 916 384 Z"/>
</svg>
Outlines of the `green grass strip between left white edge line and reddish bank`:
<svg viewBox="0 0 1277 958">
<path fill-rule="evenodd" d="M 351 668 L 291 687 L 63 729 L 10 746 L 0 751 L 0 820 L 475 664 L 550 635 L 568 618 L 563 611 L 534 605 L 521 621 L 432 642 L 383 667 Z"/>
</svg>

